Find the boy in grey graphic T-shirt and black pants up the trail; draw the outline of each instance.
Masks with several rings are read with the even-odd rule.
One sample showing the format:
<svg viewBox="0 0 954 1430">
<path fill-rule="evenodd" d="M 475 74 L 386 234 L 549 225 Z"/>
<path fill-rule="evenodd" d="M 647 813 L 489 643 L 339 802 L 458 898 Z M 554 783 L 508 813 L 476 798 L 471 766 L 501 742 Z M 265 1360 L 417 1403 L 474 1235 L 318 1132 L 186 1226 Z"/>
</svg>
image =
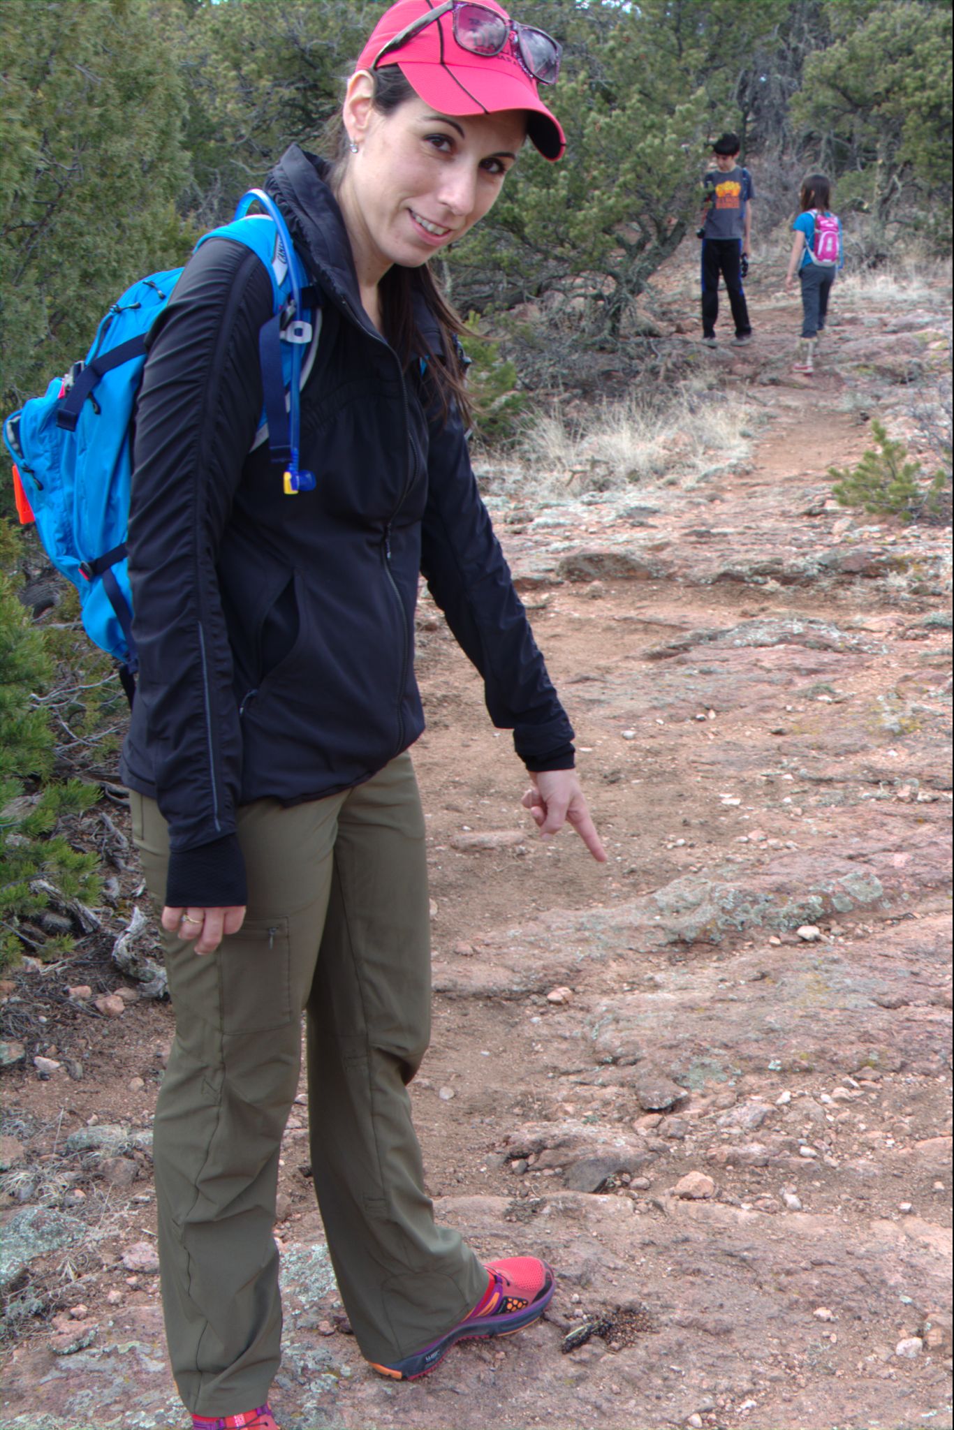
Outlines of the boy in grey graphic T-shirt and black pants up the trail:
<svg viewBox="0 0 954 1430">
<path fill-rule="evenodd" d="M 737 134 L 722 134 L 712 144 L 715 169 L 704 180 L 705 210 L 702 229 L 702 342 L 715 347 L 715 320 L 719 313 L 719 273 L 735 320 L 737 345 L 752 340 L 748 305 L 742 290 L 742 257 L 748 260 L 755 197 L 752 176 L 738 163 Z"/>
</svg>

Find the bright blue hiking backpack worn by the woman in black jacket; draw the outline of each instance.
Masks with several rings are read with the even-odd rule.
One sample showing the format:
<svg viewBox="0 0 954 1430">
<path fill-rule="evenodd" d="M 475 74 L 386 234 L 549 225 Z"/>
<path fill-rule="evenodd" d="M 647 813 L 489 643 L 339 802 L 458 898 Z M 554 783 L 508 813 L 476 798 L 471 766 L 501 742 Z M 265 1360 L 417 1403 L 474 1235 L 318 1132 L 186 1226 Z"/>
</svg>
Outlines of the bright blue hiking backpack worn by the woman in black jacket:
<svg viewBox="0 0 954 1430">
<path fill-rule="evenodd" d="M 253 203 L 266 212 L 249 214 Z M 299 470 L 299 390 L 318 352 L 318 293 L 308 286 L 280 210 L 260 189 L 250 189 L 233 222 L 206 233 L 196 247 L 212 237 L 245 243 L 272 280 L 272 317 L 259 335 L 265 405 L 252 449 L 267 439 L 287 495 L 312 490 L 315 475 Z M 137 669 L 126 562 L 130 428 L 147 335 L 180 273 L 170 269 L 133 283 L 100 322 L 84 362 L 3 425 L 20 521 L 36 522 L 50 561 L 77 588 L 86 633 L 120 662 L 130 701 Z"/>
</svg>

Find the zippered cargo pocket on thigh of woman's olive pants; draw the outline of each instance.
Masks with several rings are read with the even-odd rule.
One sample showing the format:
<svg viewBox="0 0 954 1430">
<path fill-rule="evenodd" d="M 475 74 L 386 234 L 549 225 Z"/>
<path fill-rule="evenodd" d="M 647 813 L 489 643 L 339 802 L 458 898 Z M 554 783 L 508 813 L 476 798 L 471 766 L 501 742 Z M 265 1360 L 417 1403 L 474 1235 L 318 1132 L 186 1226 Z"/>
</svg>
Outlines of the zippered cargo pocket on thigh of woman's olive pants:
<svg viewBox="0 0 954 1430">
<path fill-rule="evenodd" d="M 292 942 L 287 918 L 246 919 L 225 938 L 219 962 L 222 1031 L 266 1032 L 297 1017 L 292 1008 Z"/>
</svg>

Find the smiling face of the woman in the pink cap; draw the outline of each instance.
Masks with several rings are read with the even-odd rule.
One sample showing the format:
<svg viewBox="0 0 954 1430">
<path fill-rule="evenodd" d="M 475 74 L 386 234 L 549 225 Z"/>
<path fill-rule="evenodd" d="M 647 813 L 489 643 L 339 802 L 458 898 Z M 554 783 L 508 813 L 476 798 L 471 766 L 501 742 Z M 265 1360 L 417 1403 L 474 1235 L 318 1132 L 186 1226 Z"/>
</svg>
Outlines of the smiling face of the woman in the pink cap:
<svg viewBox="0 0 954 1430">
<path fill-rule="evenodd" d="M 426 263 L 483 217 L 516 162 L 526 116 L 442 114 L 418 96 L 380 114 L 369 90 L 362 73 L 349 86 L 345 124 L 359 152 L 339 199 L 359 276 L 378 282 L 393 263 Z"/>
</svg>

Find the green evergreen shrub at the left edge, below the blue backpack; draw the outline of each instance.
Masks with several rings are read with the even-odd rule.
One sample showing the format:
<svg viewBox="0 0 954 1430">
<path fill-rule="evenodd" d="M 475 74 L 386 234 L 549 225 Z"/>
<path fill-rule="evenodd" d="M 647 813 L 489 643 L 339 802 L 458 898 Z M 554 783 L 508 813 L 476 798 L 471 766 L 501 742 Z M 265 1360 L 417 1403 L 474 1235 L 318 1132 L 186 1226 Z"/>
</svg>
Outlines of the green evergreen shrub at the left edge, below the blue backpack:
<svg viewBox="0 0 954 1430">
<path fill-rule="evenodd" d="M 0 549 L 10 552 L 9 532 Z M 72 940 L 47 937 L 43 915 L 69 912 L 99 892 L 97 859 L 80 854 L 62 832 L 67 815 L 96 802 L 77 779 L 51 781 L 53 735 L 39 694 L 50 679 L 43 636 L 33 629 L 13 582 L 0 571 L 0 968 L 21 951 L 41 958 L 66 952 Z M 39 927 L 24 919 L 39 918 Z"/>
</svg>

